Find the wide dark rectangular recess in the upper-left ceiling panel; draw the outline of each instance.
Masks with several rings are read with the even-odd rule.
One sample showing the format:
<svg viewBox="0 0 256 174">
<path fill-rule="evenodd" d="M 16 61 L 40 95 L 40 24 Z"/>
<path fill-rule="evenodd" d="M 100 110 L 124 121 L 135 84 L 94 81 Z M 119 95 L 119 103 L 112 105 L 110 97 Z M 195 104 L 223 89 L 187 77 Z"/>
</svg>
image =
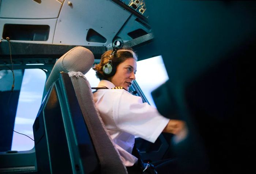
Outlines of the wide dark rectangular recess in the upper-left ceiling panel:
<svg viewBox="0 0 256 174">
<path fill-rule="evenodd" d="M 2 37 L 18 41 L 47 41 L 49 25 L 4 24 Z"/>
</svg>

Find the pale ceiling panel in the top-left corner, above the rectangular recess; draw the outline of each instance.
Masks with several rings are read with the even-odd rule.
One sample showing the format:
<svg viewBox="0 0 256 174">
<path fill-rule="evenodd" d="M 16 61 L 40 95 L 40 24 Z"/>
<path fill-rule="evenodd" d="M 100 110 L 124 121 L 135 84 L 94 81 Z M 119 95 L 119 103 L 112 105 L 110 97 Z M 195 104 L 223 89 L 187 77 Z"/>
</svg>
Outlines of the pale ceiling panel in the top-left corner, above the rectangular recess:
<svg viewBox="0 0 256 174">
<path fill-rule="evenodd" d="M 2 0 L 0 18 L 46 19 L 57 18 L 62 3 L 57 0 Z"/>
</svg>

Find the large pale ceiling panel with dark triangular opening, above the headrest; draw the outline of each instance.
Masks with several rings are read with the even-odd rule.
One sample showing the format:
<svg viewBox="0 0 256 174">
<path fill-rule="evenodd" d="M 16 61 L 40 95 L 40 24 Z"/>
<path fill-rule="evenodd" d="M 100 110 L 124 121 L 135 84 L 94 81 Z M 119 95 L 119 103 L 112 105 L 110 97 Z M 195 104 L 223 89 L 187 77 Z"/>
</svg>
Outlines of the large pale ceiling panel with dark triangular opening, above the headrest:
<svg viewBox="0 0 256 174">
<path fill-rule="evenodd" d="M 57 21 L 55 44 L 112 46 L 113 37 L 130 16 L 111 0 L 72 0 L 72 6 L 67 2 L 64 2 Z M 89 29 L 105 37 L 106 43 L 87 42 Z"/>
</svg>

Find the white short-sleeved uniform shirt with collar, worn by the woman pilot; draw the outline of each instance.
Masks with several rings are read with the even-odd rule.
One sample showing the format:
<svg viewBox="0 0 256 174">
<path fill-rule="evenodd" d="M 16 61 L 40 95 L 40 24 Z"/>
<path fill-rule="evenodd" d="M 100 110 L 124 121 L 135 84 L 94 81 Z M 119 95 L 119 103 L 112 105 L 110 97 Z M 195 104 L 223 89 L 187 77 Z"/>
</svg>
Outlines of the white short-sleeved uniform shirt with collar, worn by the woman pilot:
<svg viewBox="0 0 256 174">
<path fill-rule="evenodd" d="M 125 166 L 133 166 L 138 160 L 131 154 L 134 136 L 154 143 L 169 119 L 143 103 L 142 98 L 123 89 L 111 89 L 115 86 L 108 80 L 101 80 L 98 87 L 109 89 L 99 89 L 93 94 L 95 105 Z"/>
</svg>

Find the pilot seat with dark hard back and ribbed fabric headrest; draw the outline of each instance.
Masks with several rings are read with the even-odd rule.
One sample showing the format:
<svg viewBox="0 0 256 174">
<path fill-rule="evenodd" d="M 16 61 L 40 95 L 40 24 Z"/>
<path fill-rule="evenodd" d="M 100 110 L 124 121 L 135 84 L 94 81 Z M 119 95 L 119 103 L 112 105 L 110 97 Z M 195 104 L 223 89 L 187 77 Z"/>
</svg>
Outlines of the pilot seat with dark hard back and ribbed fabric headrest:
<svg viewBox="0 0 256 174">
<path fill-rule="evenodd" d="M 93 63 L 82 46 L 56 61 L 33 125 L 38 173 L 127 174 L 84 76 Z"/>
</svg>

